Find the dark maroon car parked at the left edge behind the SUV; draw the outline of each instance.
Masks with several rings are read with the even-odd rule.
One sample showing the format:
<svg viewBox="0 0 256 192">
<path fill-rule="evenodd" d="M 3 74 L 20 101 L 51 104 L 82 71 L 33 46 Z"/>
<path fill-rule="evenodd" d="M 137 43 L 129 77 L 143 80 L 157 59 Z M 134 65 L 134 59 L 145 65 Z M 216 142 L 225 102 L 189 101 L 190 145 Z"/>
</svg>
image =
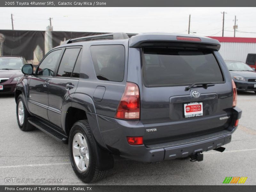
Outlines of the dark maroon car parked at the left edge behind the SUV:
<svg viewBox="0 0 256 192">
<path fill-rule="evenodd" d="M 27 61 L 20 56 L 0 56 L 0 94 L 14 94 L 17 82 L 24 74 L 21 68 Z"/>
</svg>

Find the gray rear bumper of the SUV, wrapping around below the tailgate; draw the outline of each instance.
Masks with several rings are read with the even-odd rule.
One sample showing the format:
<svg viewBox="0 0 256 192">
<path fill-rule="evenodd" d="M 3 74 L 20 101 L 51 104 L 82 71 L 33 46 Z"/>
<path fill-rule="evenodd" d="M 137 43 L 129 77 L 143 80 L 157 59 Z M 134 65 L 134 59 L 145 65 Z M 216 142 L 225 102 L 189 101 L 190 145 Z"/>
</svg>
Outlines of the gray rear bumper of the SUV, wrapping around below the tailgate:
<svg viewBox="0 0 256 192">
<path fill-rule="evenodd" d="M 155 162 L 195 155 L 229 143 L 231 134 L 236 130 L 235 121 L 241 118 L 241 114 L 241 109 L 233 108 L 230 126 L 219 132 L 184 140 L 139 146 L 129 145 L 126 137 L 144 135 L 145 128 L 140 121 L 124 121 L 99 115 L 97 118 L 101 135 L 110 151 L 132 160 Z"/>
</svg>

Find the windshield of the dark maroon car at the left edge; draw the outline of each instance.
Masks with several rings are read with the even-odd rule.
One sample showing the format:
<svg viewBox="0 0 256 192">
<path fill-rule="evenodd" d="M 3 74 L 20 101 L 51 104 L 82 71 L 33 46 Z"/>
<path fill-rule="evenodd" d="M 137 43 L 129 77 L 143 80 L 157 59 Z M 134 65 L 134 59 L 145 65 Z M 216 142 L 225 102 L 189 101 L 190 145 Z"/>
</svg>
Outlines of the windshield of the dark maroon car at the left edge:
<svg viewBox="0 0 256 192">
<path fill-rule="evenodd" d="M 20 58 L 0 58 L 0 69 L 21 69 L 22 66 Z"/>
</svg>

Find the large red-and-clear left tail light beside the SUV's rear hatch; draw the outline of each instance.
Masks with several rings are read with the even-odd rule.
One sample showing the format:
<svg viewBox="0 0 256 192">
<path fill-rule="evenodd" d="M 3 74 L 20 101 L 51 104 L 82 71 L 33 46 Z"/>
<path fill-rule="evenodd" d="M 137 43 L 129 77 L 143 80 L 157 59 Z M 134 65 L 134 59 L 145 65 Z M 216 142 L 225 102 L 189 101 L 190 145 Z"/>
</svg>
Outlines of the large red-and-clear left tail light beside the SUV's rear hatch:
<svg viewBox="0 0 256 192">
<path fill-rule="evenodd" d="M 118 119 L 140 119 L 140 91 L 137 84 L 126 83 L 115 117 Z"/>
</svg>

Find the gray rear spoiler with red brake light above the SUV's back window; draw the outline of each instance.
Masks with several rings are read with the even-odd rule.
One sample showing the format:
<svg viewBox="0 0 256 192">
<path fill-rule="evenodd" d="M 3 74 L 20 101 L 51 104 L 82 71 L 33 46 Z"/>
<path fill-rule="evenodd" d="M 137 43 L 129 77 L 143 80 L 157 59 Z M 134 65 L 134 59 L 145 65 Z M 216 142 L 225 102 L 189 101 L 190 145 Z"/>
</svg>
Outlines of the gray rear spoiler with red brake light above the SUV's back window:
<svg viewBox="0 0 256 192">
<path fill-rule="evenodd" d="M 129 47 L 140 48 L 146 46 L 207 48 L 215 51 L 220 50 L 220 42 L 218 40 L 201 36 L 168 33 L 142 33 L 132 36 L 129 39 Z"/>
</svg>

